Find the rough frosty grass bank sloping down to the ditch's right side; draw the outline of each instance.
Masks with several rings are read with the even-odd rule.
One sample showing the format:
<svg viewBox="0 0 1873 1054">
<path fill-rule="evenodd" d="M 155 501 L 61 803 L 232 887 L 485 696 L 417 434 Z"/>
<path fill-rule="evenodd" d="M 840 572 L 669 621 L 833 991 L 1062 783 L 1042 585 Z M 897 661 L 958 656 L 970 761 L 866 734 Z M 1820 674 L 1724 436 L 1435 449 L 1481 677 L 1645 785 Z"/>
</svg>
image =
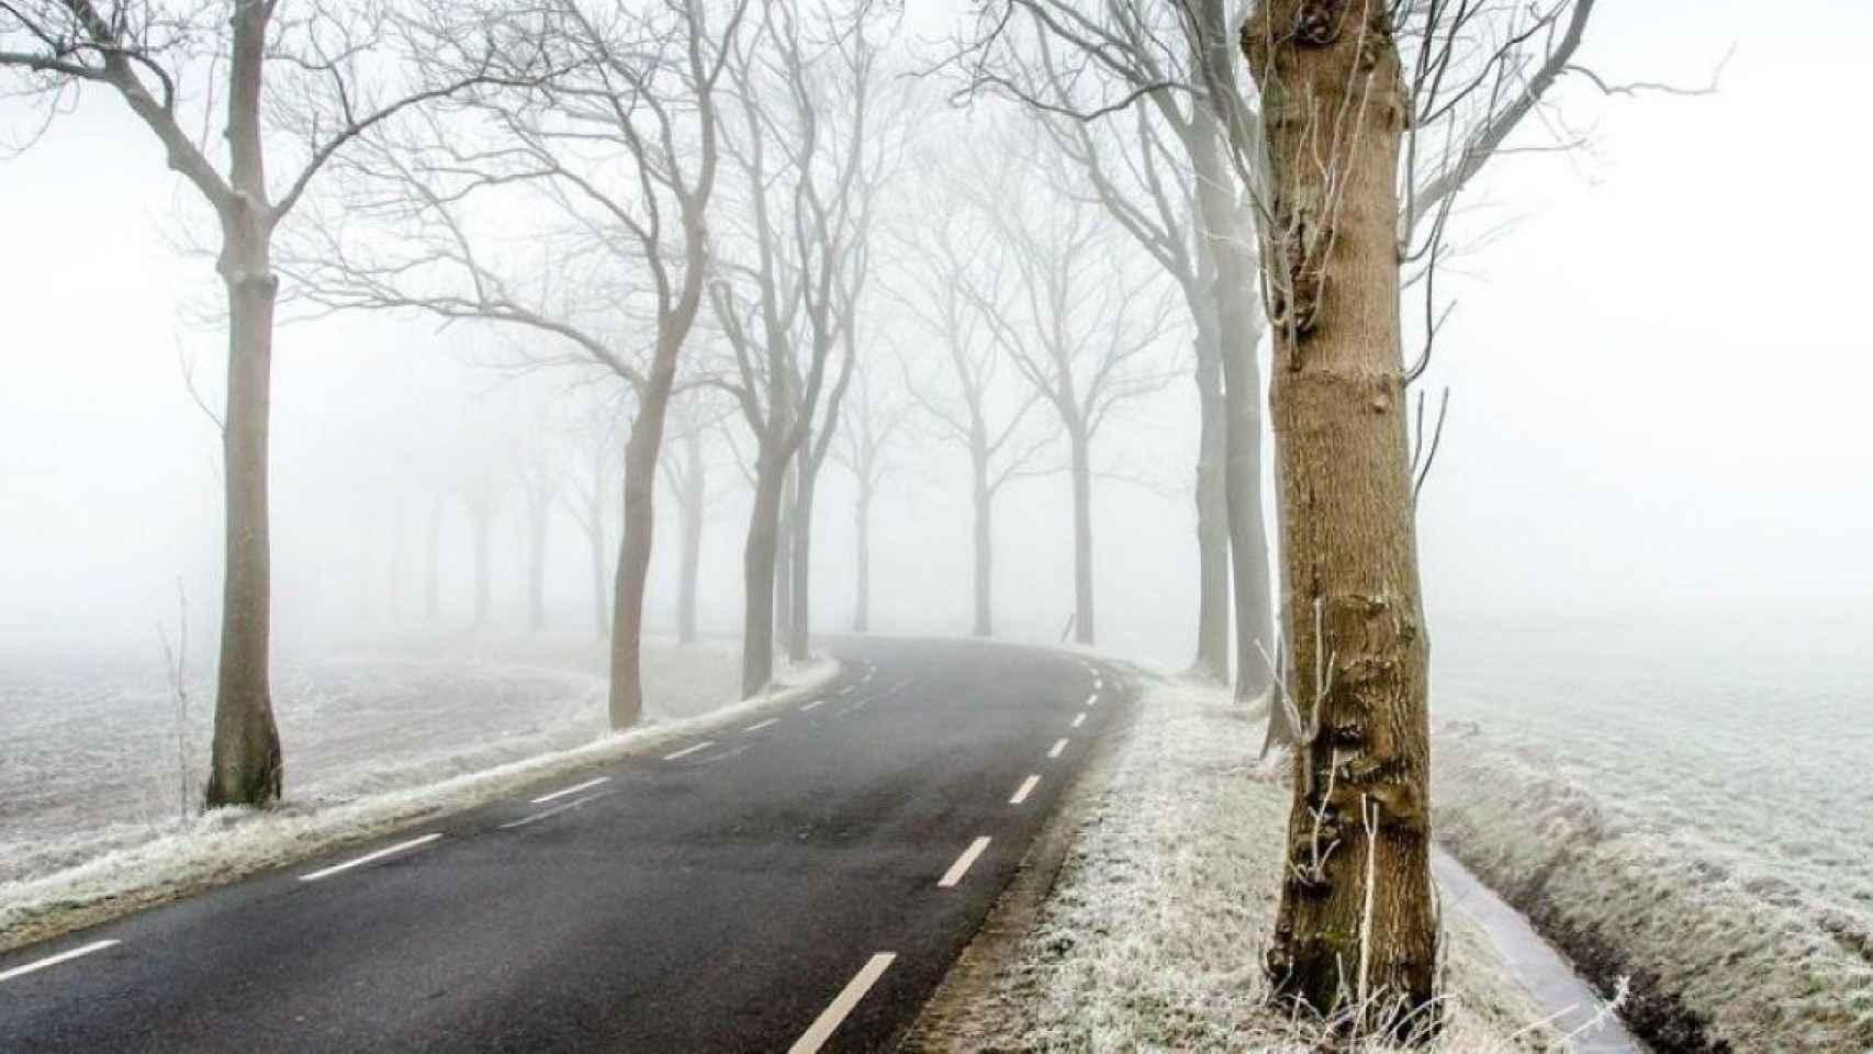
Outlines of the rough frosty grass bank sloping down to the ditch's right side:
<svg viewBox="0 0 1873 1054">
<path fill-rule="evenodd" d="M 1630 977 L 1633 1032 L 1669 1052 L 1873 1050 L 1873 914 L 1646 822 L 1474 725 L 1435 743 L 1438 841 L 1601 992 Z"/>
</svg>

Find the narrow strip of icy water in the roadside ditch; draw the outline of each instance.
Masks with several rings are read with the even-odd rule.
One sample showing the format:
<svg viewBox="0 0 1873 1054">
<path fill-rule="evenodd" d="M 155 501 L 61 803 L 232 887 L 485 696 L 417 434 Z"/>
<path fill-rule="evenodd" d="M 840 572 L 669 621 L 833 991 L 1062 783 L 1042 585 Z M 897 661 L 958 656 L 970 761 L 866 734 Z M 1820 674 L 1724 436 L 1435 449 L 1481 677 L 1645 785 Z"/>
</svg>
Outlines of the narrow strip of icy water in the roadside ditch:
<svg viewBox="0 0 1873 1054">
<path fill-rule="evenodd" d="M 1573 972 L 1573 966 L 1555 951 L 1555 945 L 1534 932 L 1521 912 L 1491 893 L 1455 857 L 1433 848 L 1431 872 L 1444 887 L 1444 906 L 1455 906 L 1483 927 L 1497 951 L 1508 960 L 1510 970 L 1515 972 L 1515 979 L 1534 994 L 1541 1013 L 1553 1015 L 1560 1032 L 1573 1033 L 1573 1050 L 1579 1054 L 1650 1052 L 1650 1047 L 1626 1032 L 1626 1022 L 1616 1015 L 1596 1020 L 1600 996 L 1592 985 Z"/>
</svg>

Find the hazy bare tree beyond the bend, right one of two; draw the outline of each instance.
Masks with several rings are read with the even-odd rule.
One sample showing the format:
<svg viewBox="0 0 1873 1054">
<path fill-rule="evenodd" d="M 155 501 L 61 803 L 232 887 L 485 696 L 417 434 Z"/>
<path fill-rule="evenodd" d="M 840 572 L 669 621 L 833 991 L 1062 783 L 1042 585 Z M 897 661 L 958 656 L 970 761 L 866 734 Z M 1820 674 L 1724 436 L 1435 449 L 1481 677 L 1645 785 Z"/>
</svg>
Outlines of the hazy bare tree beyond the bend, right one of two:
<svg viewBox="0 0 1873 1054">
<path fill-rule="evenodd" d="M 1013 154 L 1013 144 L 1004 150 Z M 1049 161 L 1030 157 L 1030 165 Z M 974 298 L 1017 373 L 1053 408 L 1073 483 L 1073 638 L 1098 640 L 1092 580 L 1092 444 L 1113 412 L 1161 389 L 1154 358 L 1171 320 L 1163 283 L 1120 251 L 1105 217 L 1068 195 L 1023 193 L 1013 168 L 976 187 L 1017 283 L 1011 301 Z M 1068 182 L 1066 172 L 1054 180 Z M 972 292 L 965 286 L 965 292 Z"/>
</svg>

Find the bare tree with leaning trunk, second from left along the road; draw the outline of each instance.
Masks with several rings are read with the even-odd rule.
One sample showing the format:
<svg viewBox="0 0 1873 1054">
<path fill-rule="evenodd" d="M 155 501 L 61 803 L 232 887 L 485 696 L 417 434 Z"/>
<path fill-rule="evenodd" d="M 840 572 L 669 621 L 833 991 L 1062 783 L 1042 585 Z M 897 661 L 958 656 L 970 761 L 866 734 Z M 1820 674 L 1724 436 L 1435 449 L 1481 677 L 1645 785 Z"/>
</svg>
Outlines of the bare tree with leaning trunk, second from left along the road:
<svg viewBox="0 0 1873 1054">
<path fill-rule="evenodd" d="M 717 183 L 719 84 L 749 0 L 659 0 L 489 11 L 491 54 L 515 66 L 504 92 L 463 97 L 461 122 L 399 127 L 360 180 L 384 187 L 354 212 L 401 227 L 397 249 L 326 223 L 296 266 L 337 309 L 423 309 L 444 318 L 526 326 L 562 339 L 560 361 L 597 367 L 637 399 L 624 444 L 624 539 L 612 590 L 611 725 L 642 719 L 644 588 L 656 522 L 656 470 L 678 356 L 702 307 L 708 210 Z M 440 36 L 440 30 L 433 30 Z M 551 79 L 523 82 L 545 52 Z M 431 60 L 450 69 L 450 49 Z M 558 238 L 500 245 L 504 193 L 564 217 Z M 479 210 L 474 206 L 479 202 Z M 528 277 L 568 285 L 528 292 Z M 551 264 L 551 266 L 549 266 Z M 569 288 L 577 277 L 584 288 Z M 594 307 L 601 305 L 601 307 Z M 648 329 L 648 348 L 637 331 Z"/>
</svg>

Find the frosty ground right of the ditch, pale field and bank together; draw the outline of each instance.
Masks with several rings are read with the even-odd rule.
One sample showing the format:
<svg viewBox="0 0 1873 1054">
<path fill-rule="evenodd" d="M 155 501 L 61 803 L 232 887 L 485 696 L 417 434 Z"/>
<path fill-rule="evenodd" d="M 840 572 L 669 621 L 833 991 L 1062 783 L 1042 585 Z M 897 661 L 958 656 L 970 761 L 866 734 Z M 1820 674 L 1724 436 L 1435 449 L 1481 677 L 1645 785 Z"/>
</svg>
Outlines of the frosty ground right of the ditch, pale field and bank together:
<svg viewBox="0 0 1873 1054">
<path fill-rule="evenodd" d="M 1433 762 L 1440 841 L 1583 968 L 1633 975 L 1641 1030 L 1873 1050 L 1866 635 L 1455 627 L 1435 663 L 1435 715 L 1461 723 Z"/>
</svg>

